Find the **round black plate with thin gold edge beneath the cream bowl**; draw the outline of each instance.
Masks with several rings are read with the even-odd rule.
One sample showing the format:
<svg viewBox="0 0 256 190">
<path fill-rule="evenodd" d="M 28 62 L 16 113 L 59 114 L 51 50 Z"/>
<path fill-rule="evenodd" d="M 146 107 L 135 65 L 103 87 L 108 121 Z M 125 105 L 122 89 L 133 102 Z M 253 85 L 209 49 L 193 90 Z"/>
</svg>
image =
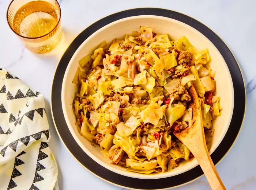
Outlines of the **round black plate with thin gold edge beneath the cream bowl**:
<svg viewBox="0 0 256 190">
<path fill-rule="evenodd" d="M 229 151 L 232 144 L 236 140 L 236 137 L 240 131 L 244 112 L 245 112 L 245 86 L 242 78 L 241 71 L 239 66 L 234 58 L 233 54 L 226 46 L 226 44 L 208 27 L 204 26 L 204 24 L 198 22 L 197 20 L 190 18 L 189 16 L 183 15 L 181 13 L 170 11 L 166 9 L 159 8 L 137 8 L 130 9 L 127 11 L 122 11 L 118 13 L 114 13 L 113 15 L 107 16 L 88 28 L 86 28 L 83 32 L 81 32 L 75 40 L 70 44 L 68 49 L 63 54 L 59 65 L 57 66 L 56 73 L 53 79 L 52 85 L 52 115 L 55 121 L 56 129 L 59 132 L 61 139 L 63 140 L 65 146 L 71 152 L 72 155 L 88 170 L 93 172 L 100 178 L 105 179 L 108 182 L 114 183 L 119 186 L 128 187 L 132 189 L 165 189 L 170 187 L 175 187 L 192 181 L 200 177 L 203 174 L 203 171 L 199 166 L 184 172 L 179 175 L 175 175 L 173 177 L 162 178 L 162 179 L 136 179 L 125 177 L 123 175 L 116 174 L 105 167 L 99 165 L 93 159 L 90 158 L 76 143 L 75 139 L 72 137 L 69 132 L 68 126 L 65 122 L 62 106 L 61 106 L 61 86 L 63 82 L 63 77 L 65 74 L 65 70 L 68 66 L 68 63 L 78 49 L 78 47 L 86 40 L 91 34 L 95 31 L 99 30 L 103 26 L 106 26 L 109 23 L 112 23 L 116 20 L 127 18 L 130 16 L 137 15 L 157 15 L 157 16 L 165 16 L 167 18 L 172 18 L 179 20 L 183 23 L 188 24 L 189 26 L 195 28 L 199 32 L 201 32 L 204 36 L 206 36 L 214 45 L 217 47 L 221 55 L 226 61 L 226 64 L 229 68 L 233 86 L 234 86 L 234 110 L 233 116 L 231 119 L 230 127 L 227 130 L 227 133 L 221 144 L 218 148 L 211 154 L 212 161 L 214 164 L 218 163 L 219 160 L 225 156 L 225 154 Z"/>
</svg>

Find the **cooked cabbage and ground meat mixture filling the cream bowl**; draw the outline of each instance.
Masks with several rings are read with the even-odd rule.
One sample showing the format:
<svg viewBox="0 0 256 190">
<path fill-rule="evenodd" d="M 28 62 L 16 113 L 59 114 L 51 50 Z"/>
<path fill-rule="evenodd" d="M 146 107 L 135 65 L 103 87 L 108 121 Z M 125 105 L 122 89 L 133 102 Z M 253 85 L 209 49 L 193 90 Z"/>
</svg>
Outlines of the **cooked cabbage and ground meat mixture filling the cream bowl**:
<svg viewBox="0 0 256 190">
<path fill-rule="evenodd" d="M 193 123 L 189 86 L 202 102 L 207 142 L 220 115 L 209 60 L 207 49 L 195 49 L 185 36 L 171 41 L 148 27 L 101 43 L 79 61 L 72 81 L 80 86 L 73 102 L 80 134 L 127 171 L 171 171 L 193 157 L 172 135 Z"/>
</svg>

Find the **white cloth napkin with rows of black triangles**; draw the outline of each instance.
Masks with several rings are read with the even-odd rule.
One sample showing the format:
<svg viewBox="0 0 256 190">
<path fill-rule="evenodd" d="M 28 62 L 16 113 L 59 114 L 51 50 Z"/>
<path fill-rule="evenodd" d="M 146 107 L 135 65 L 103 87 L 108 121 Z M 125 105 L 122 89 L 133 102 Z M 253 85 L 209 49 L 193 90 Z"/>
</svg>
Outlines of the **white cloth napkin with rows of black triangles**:
<svg viewBox="0 0 256 190">
<path fill-rule="evenodd" d="M 43 95 L 0 68 L 1 190 L 59 189 L 49 139 Z"/>
</svg>

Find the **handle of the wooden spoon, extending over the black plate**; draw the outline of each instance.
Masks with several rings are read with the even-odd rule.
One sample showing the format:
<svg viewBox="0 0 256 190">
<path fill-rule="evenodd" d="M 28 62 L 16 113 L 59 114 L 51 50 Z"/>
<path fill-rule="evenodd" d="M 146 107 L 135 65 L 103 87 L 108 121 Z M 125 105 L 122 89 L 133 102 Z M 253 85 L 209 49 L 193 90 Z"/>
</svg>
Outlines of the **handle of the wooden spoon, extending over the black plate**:
<svg viewBox="0 0 256 190">
<path fill-rule="evenodd" d="M 197 158 L 197 162 L 200 164 L 204 172 L 204 175 L 206 175 L 206 178 L 212 190 L 226 190 L 212 162 L 212 159 L 208 150 L 205 150 L 205 151 L 203 150 L 201 152 L 201 156 L 200 158 Z"/>
</svg>

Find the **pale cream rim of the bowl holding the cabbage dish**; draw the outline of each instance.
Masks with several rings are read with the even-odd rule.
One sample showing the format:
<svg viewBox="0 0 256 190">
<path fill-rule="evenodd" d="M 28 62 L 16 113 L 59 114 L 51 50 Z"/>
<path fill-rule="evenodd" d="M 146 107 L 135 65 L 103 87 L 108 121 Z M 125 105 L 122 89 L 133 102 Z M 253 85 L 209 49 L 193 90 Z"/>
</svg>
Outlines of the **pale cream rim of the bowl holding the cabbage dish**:
<svg viewBox="0 0 256 190">
<path fill-rule="evenodd" d="M 83 149 L 84 152 L 86 152 L 87 155 L 89 155 L 93 160 L 97 161 L 99 164 L 101 164 L 101 166 L 107 168 L 108 170 L 111 170 L 113 172 L 116 172 L 117 174 L 120 175 L 125 175 L 127 177 L 132 177 L 132 178 L 141 178 L 141 179 L 156 179 L 156 178 L 166 178 L 166 177 L 171 177 L 173 175 L 178 175 L 181 174 L 183 172 L 186 172 L 188 170 L 191 170 L 192 168 L 196 167 L 198 165 L 198 162 L 196 160 L 194 160 L 194 158 L 192 160 L 189 160 L 189 162 L 193 162 L 190 163 L 191 166 L 187 166 L 186 163 L 184 163 L 184 166 L 181 166 L 182 168 L 179 168 L 180 170 L 176 170 L 174 169 L 172 172 L 164 172 L 164 173 L 158 173 L 158 174 L 150 174 L 150 175 L 145 175 L 145 174 L 139 174 L 139 173 L 135 173 L 135 172 L 127 172 L 124 170 L 120 170 L 119 168 L 114 167 L 112 164 L 106 164 L 105 162 L 103 162 L 102 160 L 98 159 L 97 156 L 95 156 L 92 152 L 90 152 L 86 146 L 84 146 L 83 142 L 78 138 L 77 136 L 77 132 L 75 132 L 75 130 L 77 130 L 76 128 L 74 128 L 74 124 L 71 123 L 71 121 L 68 119 L 68 115 L 69 110 L 66 109 L 66 107 L 68 106 L 68 104 L 70 104 L 70 102 L 66 102 L 65 101 L 65 92 L 67 90 L 67 83 L 70 83 L 70 81 L 68 81 L 67 76 L 69 73 L 69 70 L 71 67 L 74 67 L 74 64 L 72 64 L 74 62 L 74 59 L 76 59 L 77 55 L 80 53 L 80 51 L 83 49 L 84 46 L 86 46 L 86 44 L 89 42 L 90 39 L 94 38 L 95 35 L 97 35 L 98 33 L 108 30 L 109 27 L 111 26 L 115 26 L 119 23 L 125 23 L 129 20 L 135 20 L 135 19 L 159 19 L 159 20 L 167 20 L 170 21 L 172 23 L 177 23 L 180 24 L 180 26 L 182 25 L 182 27 L 184 28 L 188 28 L 187 30 L 191 30 L 193 32 L 193 34 L 198 34 L 200 36 L 202 36 L 203 38 L 205 38 L 205 40 L 208 40 L 205 36 L 203 36 L 202 33 L 200 33 L 199 31 L 197 31 L 195 28 L 192 28 L 191 26 L 182 23 L 178 20 L 172 19 L 172 18 L 166 18 L 163 16 L 155 16 L 155 15 L 140 15 L 140 16 L 131 16 L 128 18 L 123 18 L 123 19 L 119 19 L 116 20 L 112 23 L 107 24 L 106 26 L 100 28 L 99 30 L 95 31 L 93 34 L 91 34 L 86 40 L 84 40 L 84 42 L 78 47 L 78 49 L 75 51 L 75 53 L 73 54 L 72 58 L 70 59 L 67 69 L 65 71 L 64 74 L 64 78 L 63 78 L 63 83 L 62 83 L 62 90 L 61 90 L 61 102 L 62 102 L 62 108 L 63 108 L 63 113 L 64 113 L 64 117 L 65 117 L 65 121 L 68 125 L 68 129 L 71 132 L 73 138 L 76 140 L 76 143 L 79 144 L 79 146 Z M 223 59 L 221 53 L 218 51 L 218 49 L 214 46 L 214 44 L 212 44 L 212 42 L 210 40 L 208 40 L 209 44 L 215 49 L 215 51 L 221 56 L 221 58 Z M 229 69 L 226 66 L 225 60 L 223 59 L 223 68 L 226 69 L 227 73 L 229 73 Z M 229 80 L 229 85 L 231 86 L 231 107 L 230 110 L 233 111 L 233 107 L 234 107 L 234 90 L 233 90 L 233 82 L 232 82 L 232 78 L 231 75 L 229 73 L 229 75 L 226 77 Z M 221 143 L 223 137 L 225 136 L 225 132 L 227 131 L 227 129 L 229 128 L 229 124 L 231 121 L 231 117 L 232 114 L 229 115 L 229 117 L 227 118 L 227 124 L 223 127 L 223 132 L 222 132 L 222 136 L 219 137 L 218 141 L 214 144 L 211 145 L 211 150 L 210 150 L 210 154 L 212 152 L 214 152 L 214 150 L 219 146 L 219 144 Z"/>
</svg>

